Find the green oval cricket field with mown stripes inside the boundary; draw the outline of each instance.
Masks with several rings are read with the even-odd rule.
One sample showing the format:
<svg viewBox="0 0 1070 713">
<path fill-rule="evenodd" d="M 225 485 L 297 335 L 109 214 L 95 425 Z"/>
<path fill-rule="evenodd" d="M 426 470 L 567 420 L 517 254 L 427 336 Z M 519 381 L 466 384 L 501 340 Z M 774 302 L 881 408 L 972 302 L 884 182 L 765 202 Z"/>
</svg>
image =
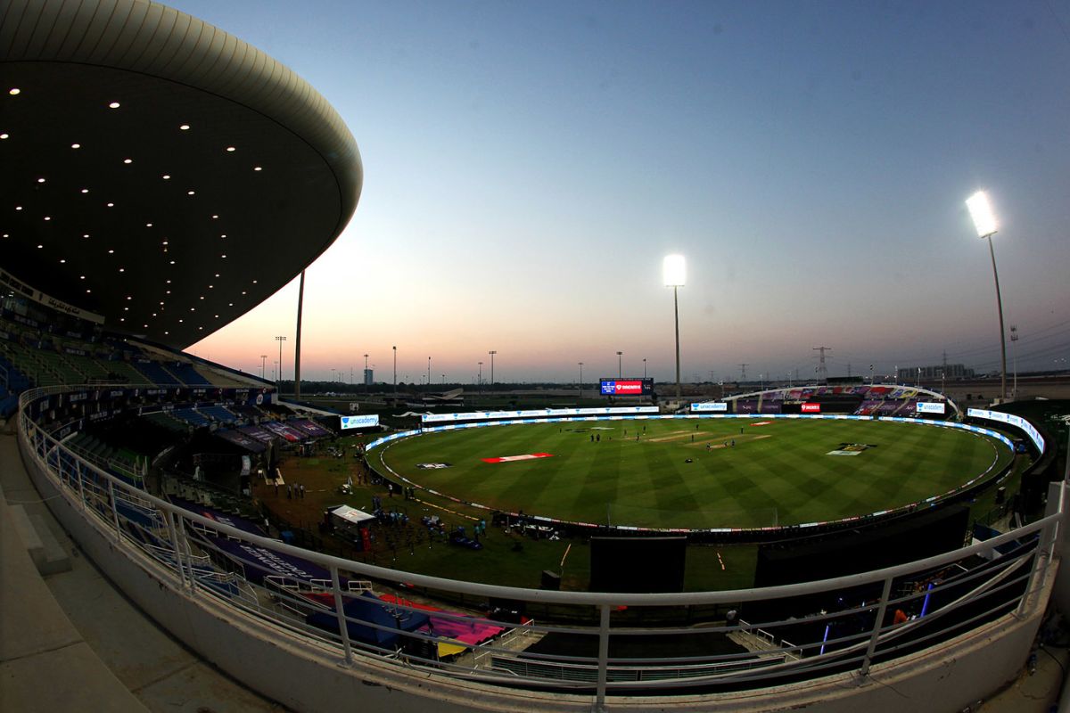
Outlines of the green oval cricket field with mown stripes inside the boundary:
<svg viewBox="0 0 1070 713">
<path fill-rule="evenodd" d="M 592 435 L 600 440 L 593 443 Z M 843 444 L 869 447 L 857 455 L 828 454 Z M 482 460 L 540 452 L 551 455 Z M 1011 454 L 969 432 L 910 423 L 707 419 L 446 431 L 395 441 L 369 458 L 382 458 L 421 485 L 493 509 L 597 524 L 706 528 L 889 510 L 953 491 L 1009 463 Z M 449 467 L 422 469 L 422 463 Z"/>
</svg>

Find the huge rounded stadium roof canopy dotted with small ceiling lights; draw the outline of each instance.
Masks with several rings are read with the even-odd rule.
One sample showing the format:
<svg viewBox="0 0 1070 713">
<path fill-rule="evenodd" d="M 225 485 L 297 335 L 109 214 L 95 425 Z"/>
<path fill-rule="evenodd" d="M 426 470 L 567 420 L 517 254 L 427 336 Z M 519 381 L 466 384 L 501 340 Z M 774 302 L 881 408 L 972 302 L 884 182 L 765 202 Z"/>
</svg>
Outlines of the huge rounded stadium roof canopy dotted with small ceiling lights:
<svg viewBox="0 0 1070 713">
<path fill-rule="evenodd" d="M 307 82 L 146 0 L 0 5 L 0 286 L 179 348 L 326 250 L 363 181 Z"/>
</svg>

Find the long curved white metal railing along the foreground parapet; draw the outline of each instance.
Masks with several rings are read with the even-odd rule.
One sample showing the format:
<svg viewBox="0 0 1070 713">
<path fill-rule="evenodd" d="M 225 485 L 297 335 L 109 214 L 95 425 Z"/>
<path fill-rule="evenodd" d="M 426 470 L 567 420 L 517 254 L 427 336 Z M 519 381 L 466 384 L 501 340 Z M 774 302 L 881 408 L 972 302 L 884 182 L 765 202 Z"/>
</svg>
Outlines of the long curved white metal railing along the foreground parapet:
<svg viewBox="0 0 1070 713">
<path fill-rule="evenodd" d="M 189 595 L 226 602 L 270 622 L 276 631 L 340 653 L 348 664 L 370 656 L 423 675 L 586 692 L 598 709 L 611 694 L 668 694 L 719 684 L 761 686 L 785 677 L 844 670 L 866 676 L 874 662 L 908 654 L 1008 614 L 1031 613 L 1043 606 L 1036 593 L 1048 576 L 1064 511 L 1060 498 L 1054 514 L 970 547 L 798 585 L 661 594 L 483 585 L 305 551 L 138 491 L 65 449 L 34 423 L 28 406 L 48 392 L 55 389 L 35 389 L 20 401 L 22 452 L 87 520 L 114 539 L 116 556 L 164 568 L 173 586 Z M 260 553 L 259 559 L 239 557 L 225 546 L 234 542 Z M 1011 543 L 1017 547 L 992 561 L 962 564 Z M 281 578 L 275 565 L 289 568 Z M 279 586 L 282 580 L 287 586 Z M 439 631 L 417 626 L 429 616 L 423 607 L 400 599 L 377 603 L 366 594 L 364 583 L 369 580 L 383 588 L 406 582 L 431 598 L 462 598 L 488 610 L 492 601 L 513 602 L 537 616 L 538 623 L 532 619 L 517 626 L 515 621 L 503 621 L 507 615 L 493 611 L 433 613 L 431 621 L 440 622 Z M 851 605 L 824 605 L 845 594 L 854 598 Z M 800 598 L 814 603 L 793 609 Z M 777 602 L 783 604 L 770 608 Z M 678 625 L 674 613 L 685 606 L 709 611 L 707 621 L 701 626 Z M 631 611 L 615 614 L 625 607 Z M 640 620 L 637 608 L 644 614 L 643 623 L 628 626 L 627 622 Z M 723 613 L 729 609 L 753 614 L 746 622 L 727 623 Z M 667 623 L 647 623 L 657 619 Z M 490 638 L 463 644 L 440 635 L 442 629 L 457 626 L 485 632 Z M 509 632 L 517 633 L 509 636 Z M 725 646 L 733 632 L 761 638 L 763 650 Z M 521 636 L 533 642 L 525 650 L 515 640 Z M 653 647 L 667 639 L 673 642 L 670 649 Z M 611 642 L 644 640 L 652 646 L 636 646 L 639 654 L 611 649 Z"/>
</svg>

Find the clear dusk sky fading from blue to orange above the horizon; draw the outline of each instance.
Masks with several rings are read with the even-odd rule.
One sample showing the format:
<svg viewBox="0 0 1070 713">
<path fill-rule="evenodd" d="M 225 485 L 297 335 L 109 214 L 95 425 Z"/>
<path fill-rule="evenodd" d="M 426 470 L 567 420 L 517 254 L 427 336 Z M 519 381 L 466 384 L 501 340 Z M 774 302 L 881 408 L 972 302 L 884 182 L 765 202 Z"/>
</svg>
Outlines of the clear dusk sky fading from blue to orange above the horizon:
<svg viewBox="0 0 1070 713">
<path fill-rule="evenodd" d="M 303 376 L 812 377 L 1070 368 L 1070 2 L 180 0 L 356 138 L 356 213 L 308 268 Z M 190 347 L 266 375 L 296 280 Z M 1009 366 L 1009 368 L 1011 368 Z"/>
</svg>

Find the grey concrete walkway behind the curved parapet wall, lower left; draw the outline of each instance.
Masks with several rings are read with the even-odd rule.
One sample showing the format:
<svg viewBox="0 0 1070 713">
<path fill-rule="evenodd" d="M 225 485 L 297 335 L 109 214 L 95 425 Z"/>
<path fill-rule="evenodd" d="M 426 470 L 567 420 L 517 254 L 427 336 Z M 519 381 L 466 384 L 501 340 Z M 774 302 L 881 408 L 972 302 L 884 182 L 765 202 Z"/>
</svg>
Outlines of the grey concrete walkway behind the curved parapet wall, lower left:
<svg viewBox="0 0 1070 713">
<path fill-rule="evenodd" d="M 71 571 L 42 577 L 10 505 L 42 515 Z M 67 538 L 0 435 L 0 711 L 280 712 L 148 619 Z"/>
</svg>

